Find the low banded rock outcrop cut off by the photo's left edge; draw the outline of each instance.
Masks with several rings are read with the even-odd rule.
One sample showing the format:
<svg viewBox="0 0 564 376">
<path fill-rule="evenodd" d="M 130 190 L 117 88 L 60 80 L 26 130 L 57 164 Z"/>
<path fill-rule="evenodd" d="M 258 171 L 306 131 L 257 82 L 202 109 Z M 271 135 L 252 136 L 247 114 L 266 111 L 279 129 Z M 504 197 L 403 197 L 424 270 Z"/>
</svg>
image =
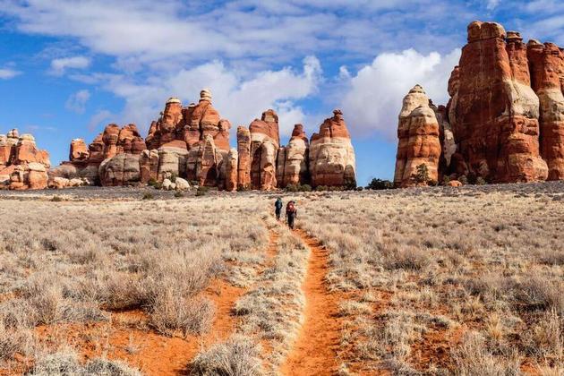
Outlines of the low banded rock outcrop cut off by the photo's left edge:
<svg viewBox="0 0 564 376">
<path fill-rule="evenodd" d="M 16 129 L 0 135 L 0 184 L 14 190 L 47 188 L 49 154 L 31 134 Z"/>
</svg>

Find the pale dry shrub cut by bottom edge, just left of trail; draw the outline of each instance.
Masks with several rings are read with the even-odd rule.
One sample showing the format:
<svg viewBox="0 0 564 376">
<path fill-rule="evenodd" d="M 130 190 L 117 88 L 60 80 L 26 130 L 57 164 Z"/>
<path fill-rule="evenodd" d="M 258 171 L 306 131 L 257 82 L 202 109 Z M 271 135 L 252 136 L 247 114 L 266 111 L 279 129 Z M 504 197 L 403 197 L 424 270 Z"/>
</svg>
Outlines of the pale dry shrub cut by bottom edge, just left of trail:
<svg viewBox="0 0 564 376">
<path fill-rule="evenodd" d="M 235 336 L 197 355 L 192 372 L 203 376 L 262 375 L 260 349 L 250 339 Z"/>
</svg>

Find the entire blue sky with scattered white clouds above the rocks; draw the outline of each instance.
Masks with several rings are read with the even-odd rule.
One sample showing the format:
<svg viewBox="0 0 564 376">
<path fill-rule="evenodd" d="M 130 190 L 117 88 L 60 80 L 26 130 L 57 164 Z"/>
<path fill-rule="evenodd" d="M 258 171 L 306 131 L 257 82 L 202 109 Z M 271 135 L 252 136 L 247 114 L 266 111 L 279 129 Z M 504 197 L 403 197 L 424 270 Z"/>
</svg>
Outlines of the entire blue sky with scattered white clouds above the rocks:
<svg viewBox="0 0 564 376">
<path fill-rule="evenodd" d="M 551 0 L 0 0 L 0 132 L 32 132 L 58 164 L 73 138 L 111 122 L 145 134 L 168 97 L 207 87 L 232 136 L 267 108 L 283 141 L 341 108 L 366 184 L 393 175 L 406 92 L 448 100 L 474 20 L 564 45 Z"/>
</svg>

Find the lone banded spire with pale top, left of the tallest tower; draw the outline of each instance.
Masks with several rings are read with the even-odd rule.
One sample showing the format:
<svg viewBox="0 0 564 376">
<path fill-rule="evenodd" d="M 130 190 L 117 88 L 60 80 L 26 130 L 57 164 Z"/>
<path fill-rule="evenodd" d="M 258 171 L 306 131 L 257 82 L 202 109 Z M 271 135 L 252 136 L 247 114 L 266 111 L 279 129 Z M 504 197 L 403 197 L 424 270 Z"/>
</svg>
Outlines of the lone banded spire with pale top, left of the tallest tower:
<svg viewBox="0 0 564 376">
<path fill-rule="evenodd" d="M 439 181 L 439 122 L 429 106 L 423 88 L 415 85 L 404 98 L 397 126 L 397 158 L 394 184 L 406 187 L 428 182 L 417 181 L 417 168 L 427 167 L 428 178 Z"/>
</svg>

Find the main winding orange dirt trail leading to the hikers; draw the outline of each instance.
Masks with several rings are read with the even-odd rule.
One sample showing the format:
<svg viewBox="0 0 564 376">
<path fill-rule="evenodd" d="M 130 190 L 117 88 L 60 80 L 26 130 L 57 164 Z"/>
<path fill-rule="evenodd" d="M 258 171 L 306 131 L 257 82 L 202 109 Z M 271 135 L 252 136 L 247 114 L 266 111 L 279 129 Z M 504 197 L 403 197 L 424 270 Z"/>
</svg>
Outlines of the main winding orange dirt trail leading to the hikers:
<svg viewBox="0 0 564 376">
<path fill-rule="evenodd" d="M 284 375 L 331 375 L 337 372 L 341 320 L 338 318 L 337 294 L 329 293 L 325 276 L 329 270 L 327 250 L 320 241 L 298 229 L 310 248 L 310 260 L 303 282 L 305 310 L 303 327 L 280 368 Z"/>
</svg>

